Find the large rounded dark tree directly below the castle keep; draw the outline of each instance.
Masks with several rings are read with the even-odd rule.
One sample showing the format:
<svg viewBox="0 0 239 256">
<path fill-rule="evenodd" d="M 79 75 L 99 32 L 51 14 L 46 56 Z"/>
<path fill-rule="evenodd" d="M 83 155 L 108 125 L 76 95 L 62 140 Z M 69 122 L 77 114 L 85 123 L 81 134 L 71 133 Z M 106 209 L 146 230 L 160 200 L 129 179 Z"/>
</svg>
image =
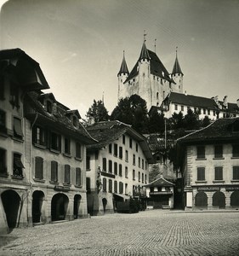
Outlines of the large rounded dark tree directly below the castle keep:
<svg viewBox="0 0 239 256">
<path fill-rule="evenodd" d="M 111 113 L 111 120 L 119 120 L 132 125 L 135 131 L 148 132 L 148 115 L 146 102 L 138 95 L 121 99 Z"/>
</svg>

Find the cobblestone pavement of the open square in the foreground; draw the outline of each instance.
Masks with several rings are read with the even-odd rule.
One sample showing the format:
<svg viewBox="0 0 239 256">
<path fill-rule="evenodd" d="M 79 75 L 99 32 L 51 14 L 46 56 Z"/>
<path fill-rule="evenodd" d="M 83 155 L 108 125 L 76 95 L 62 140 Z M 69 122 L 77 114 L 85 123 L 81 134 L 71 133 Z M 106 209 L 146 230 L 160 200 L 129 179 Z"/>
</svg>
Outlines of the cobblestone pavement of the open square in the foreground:
<svg viewBox="0 0 239 256">
<path fill-rule="evenodd" d="M 115 213 L 8 236 L 0 255 L 239 255 L 239 212 Z"/>
</svg>

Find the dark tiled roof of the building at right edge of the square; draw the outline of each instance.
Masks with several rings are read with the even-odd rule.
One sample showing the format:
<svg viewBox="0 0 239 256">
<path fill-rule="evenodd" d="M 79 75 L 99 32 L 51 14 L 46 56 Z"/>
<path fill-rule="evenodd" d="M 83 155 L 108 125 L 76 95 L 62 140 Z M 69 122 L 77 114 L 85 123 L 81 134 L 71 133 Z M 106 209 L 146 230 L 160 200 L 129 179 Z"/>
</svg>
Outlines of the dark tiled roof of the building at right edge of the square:
<svg viewBox="0 0 239 256">
<path fill-rule="evenodd" d="M 217 119 L 202 130 L 179 138 L 177 143 L 214 143 L 239 141 L 239 118 Z"/>
</svg>

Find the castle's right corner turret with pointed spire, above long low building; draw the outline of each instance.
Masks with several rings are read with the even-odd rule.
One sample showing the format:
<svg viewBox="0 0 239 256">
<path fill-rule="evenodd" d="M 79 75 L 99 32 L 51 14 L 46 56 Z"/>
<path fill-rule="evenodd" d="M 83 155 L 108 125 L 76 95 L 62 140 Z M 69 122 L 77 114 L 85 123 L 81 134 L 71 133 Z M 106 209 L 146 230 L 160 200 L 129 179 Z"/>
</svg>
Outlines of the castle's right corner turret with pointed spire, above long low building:
<svg viewBox="0 0 239 256">
<path fill-rule="evenodd" d="M 172 86 L 172 89 L 174 92 L 179 92 L 183 93 L 184 92 L 184 73 L 182 73 L 181 67 L 179 65 L 179 60 L 178 60 L 178 47 L 176 48 L 176 59 L 174 62 L 174 68 L 172 71 L 172 79 L 174 79 L 174 86 Z"/>
</svg>

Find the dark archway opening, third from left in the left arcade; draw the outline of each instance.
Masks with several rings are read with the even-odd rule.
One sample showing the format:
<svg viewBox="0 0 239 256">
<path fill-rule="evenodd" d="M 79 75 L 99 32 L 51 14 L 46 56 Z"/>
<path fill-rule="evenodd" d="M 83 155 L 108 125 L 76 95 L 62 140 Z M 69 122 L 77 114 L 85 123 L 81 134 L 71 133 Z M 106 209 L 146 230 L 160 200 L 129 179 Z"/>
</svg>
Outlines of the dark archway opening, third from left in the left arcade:
<svg viewBox="0 0 239 256">
<path fill-rule="evenodd" d="M 69 198 L 65 194 L 55 194 L 51 201 L 52 221 L 64 220 L 69 204 Z"/>
</svg>

